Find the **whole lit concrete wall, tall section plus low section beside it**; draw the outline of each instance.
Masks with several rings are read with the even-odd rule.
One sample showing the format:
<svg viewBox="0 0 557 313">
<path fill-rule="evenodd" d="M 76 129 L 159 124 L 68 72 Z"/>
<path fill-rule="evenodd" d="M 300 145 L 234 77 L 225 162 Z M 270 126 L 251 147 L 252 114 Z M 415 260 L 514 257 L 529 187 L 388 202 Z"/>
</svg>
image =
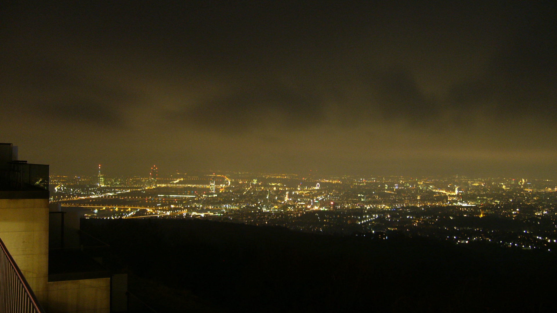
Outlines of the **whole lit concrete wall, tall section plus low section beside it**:
<svg viewBox="0 0 557 313">
<path fill-rule="evenodd" d="M 0 199 L 0 238 L 48 313 L 109 313 L 110 278 L 48 282 L 48 199 Z"/>
</svg>

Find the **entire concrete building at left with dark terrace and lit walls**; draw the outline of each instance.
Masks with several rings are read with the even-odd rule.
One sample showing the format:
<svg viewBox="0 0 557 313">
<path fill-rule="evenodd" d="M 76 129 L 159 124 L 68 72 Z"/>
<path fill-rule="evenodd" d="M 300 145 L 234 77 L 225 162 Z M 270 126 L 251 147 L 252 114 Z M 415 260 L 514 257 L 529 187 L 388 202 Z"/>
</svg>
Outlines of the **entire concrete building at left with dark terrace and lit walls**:
<svg viewBox="0 0 557 313">
<path fill-rule="evenodd" d="M 23 302 L 32 304 L 36 299 L 38 305 L 35 311 L 25 312 L 111 312 L 114 273 L 86 253 L 79 214 L 61 212 L 59 206 L 49 208 L 48 165 L 17 160 L 13 152 L 12 144 L 0 144 L 0 239 L 7 250 L 0 252 L 2 260 L 16 263 L 10 267 L 6 261 L 0 268 L 4 271 L 0 272 L 0 311 L 24 312 L 10 307 L 6 299 L 27 296 Z M 11 290 L 17 284 L 6 281 L 17 274 L 17 267 L 25 292 Z M 124 281 L 121 276 L 117 280 L 120 285 Z M 113 299 L 118 311 L 127 310 L 123 296 Z"/>
</svg>

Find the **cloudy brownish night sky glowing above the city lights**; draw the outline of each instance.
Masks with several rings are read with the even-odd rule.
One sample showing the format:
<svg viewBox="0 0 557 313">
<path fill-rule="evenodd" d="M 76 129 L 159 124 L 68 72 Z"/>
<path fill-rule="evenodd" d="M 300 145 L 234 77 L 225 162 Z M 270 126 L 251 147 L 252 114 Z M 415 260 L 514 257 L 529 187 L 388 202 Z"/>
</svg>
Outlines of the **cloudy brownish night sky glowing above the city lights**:
<svg viewBox="0 0 557 313">
<path fill-rule="evenodd" d="M 0 141 L 55 174 L 557 179 L 553 3 L 2 3 Z"/>
</svg>

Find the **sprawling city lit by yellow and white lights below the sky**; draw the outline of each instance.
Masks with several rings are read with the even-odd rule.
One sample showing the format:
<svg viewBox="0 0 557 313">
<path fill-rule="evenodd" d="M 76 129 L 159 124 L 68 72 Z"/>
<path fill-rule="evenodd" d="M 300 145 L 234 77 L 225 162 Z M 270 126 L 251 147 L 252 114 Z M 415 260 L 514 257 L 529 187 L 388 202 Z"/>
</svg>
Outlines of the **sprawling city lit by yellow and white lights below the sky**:
<svg viewBox="0 0 557 313">
<path fill-rule="evenodd" d="M 206 219 L 295 231 L 554 251 L 557 183 L 520 178 L 174 173 L 51 175 L 52 202 L 97 219 Z M 98 182 L 98 183 L 97 183 Z"/>
</svg>

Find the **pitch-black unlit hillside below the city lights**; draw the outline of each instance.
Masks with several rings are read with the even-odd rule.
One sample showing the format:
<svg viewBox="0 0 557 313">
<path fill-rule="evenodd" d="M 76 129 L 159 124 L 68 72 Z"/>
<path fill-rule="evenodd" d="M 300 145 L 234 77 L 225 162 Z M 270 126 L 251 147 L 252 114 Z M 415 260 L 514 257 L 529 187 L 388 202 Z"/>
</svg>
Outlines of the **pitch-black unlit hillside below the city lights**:
<svg viewBox="0 0 557 313">
<path fill-rule="evenodd" d="M 557 312 L 554 253 L 185 219 L 81 229 L 159 312 Z"/>
</svg>

